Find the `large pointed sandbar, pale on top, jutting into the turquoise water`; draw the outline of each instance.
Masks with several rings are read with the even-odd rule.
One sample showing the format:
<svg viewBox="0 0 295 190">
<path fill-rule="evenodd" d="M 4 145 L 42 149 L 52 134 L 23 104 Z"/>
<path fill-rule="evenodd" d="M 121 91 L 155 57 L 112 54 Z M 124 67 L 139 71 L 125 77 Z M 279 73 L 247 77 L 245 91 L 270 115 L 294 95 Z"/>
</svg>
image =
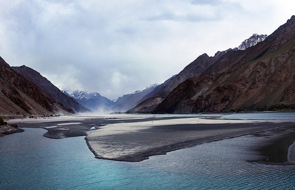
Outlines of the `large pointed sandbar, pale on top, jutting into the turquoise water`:
<svg viewBox="0 0 295 190">
<path fill-rule="evenodd" d="M 180 118 L 109 124 L 90 132 L 85 140 L 96 158 L 138 162 L 206 142 L 294 127 L 290 121 Z"/>
</svg>

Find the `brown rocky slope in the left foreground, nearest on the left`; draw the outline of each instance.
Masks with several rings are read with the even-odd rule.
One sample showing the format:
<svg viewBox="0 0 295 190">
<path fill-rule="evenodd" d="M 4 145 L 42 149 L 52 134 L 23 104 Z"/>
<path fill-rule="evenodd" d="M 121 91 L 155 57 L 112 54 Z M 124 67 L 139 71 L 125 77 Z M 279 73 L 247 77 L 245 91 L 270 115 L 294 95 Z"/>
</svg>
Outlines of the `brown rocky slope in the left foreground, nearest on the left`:
<svg viewBox="0 0 295 190">
<path fill-rule="evenodd" d="M 51 98 L 36 84 L 11 69 L 0 57 L 0 114 L 48 115 L 74 113 Z"/>
</svg>

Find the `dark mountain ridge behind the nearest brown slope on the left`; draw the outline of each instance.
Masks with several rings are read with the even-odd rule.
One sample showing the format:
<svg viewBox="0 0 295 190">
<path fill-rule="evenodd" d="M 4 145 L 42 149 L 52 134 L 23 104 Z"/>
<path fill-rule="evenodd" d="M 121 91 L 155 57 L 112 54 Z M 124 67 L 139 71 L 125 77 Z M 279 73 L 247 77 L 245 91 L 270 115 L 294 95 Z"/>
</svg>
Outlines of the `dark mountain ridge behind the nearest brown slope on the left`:
<svg viewBox="0 0 295 190">
<path fill-rule="evenodd" d="M 15 71 L 19 72 L 29 81 L 35 83 L 41 90 L 51 96 L 54 100 L 62 103 L 65 107 L 73 109 L 74 112 L 89 112 L 81 104 L 76 102 L 73 98 L 68 97 L 66 94 L 62 93 L 56 86 L 54 86 L 47 78 L 43 77 L 39 72 L 31 69 L 27 66 L 11 67 Z"/>
</svg>

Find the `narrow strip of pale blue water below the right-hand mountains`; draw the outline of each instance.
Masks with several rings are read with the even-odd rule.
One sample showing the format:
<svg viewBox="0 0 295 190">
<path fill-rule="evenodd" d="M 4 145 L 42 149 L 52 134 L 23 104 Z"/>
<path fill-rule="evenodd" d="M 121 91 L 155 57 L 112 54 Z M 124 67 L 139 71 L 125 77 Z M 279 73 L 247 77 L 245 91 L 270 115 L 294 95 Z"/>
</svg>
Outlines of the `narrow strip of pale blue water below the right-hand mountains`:
<svg viewBox="0 0 295 190">
<path fill-rule="evenodd" d="M 295 120 L 295 112 L 216 113 L 216 114 L 158 114 L 157 116 L 218 116 L 225 119 Z"/>
</svg>

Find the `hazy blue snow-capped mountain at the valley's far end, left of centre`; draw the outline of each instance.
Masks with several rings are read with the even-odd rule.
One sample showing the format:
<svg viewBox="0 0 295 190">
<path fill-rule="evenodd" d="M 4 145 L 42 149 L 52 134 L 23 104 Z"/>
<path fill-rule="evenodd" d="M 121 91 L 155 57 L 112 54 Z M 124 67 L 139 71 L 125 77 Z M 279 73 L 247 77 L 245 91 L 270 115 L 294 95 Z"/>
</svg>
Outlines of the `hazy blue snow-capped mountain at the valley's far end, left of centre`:
<svg viewBox="0 0 295 190">
<path fill-rule="evenodd" d="M 68 90 L 64 88 L 61 89 L 61 92 L 73 97 L 80 104 L 82 104 L 82 106 L 93 111 L 108 110 L 108 105 L 113 102 L 106 97 L 101 96 L 97 92 Z"/>
</svg>

